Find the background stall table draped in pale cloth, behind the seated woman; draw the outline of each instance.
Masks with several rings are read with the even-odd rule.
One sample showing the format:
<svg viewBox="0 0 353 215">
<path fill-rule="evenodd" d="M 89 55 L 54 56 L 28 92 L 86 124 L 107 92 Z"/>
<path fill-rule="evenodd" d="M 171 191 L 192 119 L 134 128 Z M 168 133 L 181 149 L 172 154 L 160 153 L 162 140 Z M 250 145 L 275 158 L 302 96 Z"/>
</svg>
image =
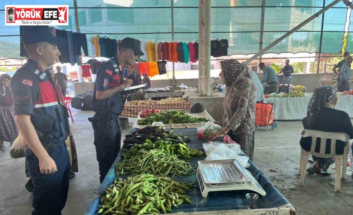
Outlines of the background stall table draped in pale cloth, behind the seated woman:
<svg viewBox="0 0 353 215">
<path fill-rule="evenodd" d="M 306 117 L 307 105 L 311 96 L 276 98 L 274 103 L 274 120 L 301 120 Z M 265 99 L 273 103 L 274 98 Z M 353 96 L 340 95 L 339 102 L 334 109 L 346 112 L 350 118 L 353 118 L 352 110 Z"/>
</svg>

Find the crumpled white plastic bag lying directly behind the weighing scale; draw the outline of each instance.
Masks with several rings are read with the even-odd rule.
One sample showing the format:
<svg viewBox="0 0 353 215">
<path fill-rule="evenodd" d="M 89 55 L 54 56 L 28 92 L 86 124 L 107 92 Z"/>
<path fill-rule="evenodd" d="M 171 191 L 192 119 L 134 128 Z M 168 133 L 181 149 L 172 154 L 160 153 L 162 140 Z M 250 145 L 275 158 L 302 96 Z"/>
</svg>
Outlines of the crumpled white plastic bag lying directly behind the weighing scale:
<svg viewBox="0 0 353 215">
<path fill-rule="evenodd" d="M 206 161 L 214 161 L 214 160 L 226 160 L 226 159 L 235 159 L 239 162 L 239 164 L 247 168 L 250 165 L 247 163 L 249 160 L 246 156 L 239 156 L 237 152 L 234 150 L 229 149 L 227 144 L 219 144 L 215 147 L 211 153 L 206 157 Z M 240 150 L 240 149 L 239 149 Z"/>
</svg>

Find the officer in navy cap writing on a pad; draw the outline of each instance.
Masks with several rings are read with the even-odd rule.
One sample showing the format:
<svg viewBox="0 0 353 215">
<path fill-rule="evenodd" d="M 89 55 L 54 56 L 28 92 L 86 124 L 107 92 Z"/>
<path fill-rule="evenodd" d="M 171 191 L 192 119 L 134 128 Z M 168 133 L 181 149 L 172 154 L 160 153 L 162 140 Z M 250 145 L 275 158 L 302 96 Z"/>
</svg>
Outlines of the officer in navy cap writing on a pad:
<svg viewBox="0 0 353 215">
<path fill-rule="evenodd" d="M 133 82 L 131 79 L 124 80 L 123 67 L 132 66 L 138 59 L 137 55 L 143 55 L 140 42 L 126 37 L 119 44 L 118 55 L 103 63 L 97 71 L 92 101 L 95 114 L 90 121 L 94 130 L 100 183 L 103 182 L 120 151 L 119 115 L 125 102 L 120 92 L 130 87 Z"/>
</svg>

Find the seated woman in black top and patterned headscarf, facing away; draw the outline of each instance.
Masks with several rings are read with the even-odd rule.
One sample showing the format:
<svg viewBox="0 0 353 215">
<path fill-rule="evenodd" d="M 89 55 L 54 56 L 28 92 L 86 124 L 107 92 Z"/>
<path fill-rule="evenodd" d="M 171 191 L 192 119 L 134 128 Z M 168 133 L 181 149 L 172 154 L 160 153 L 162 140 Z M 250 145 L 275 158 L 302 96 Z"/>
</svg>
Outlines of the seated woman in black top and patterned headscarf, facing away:
<svg viewBox="0 0 353 215">
<path fill-rule="evenodd" d="M 353 139 L 353 127 L 350 118 L 346 112 L 334 109 L 334 105 L 336 105 L 337 102 L 338 96 L 336 88 L 332 86 L 316 88 L 307 107 L 307 129 L 346 133 L 349 135 L 350 139 Z M 319 146 L 318 141 L 319 140 L 316 140 L 316 148 Z M 342 155 L 345 145 L 345 142 L 337 141 L 336 154 Z M 301 137 L 300 146 L 303 150 L 309 152 L 311 148 L 311 137 Z M 306 170 L 307 173 L 310 175 L 316 173 L 323 176 L 331 174 L 327 169 L 329 165 L 332 164 L 333 158 L 318 158 L 312 156 L 312 160 L 314 163 Z M 343 161 L 343 163 L 344 162 L 347 161 Z"/>
</svg>

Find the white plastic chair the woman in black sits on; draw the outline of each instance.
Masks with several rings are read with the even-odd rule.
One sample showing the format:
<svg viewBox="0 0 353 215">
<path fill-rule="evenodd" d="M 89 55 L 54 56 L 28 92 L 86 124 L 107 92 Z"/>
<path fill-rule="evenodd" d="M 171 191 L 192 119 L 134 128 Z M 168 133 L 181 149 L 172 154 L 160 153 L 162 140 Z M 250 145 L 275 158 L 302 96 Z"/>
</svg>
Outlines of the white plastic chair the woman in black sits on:
<svg viewBox="0 0 353 215">
<path fill-rule="evenodd" d="M 335 192 L 339 192 L 342 155 L 336 155 L 336 141 L 340 140 L 340 141 L 347 143 L 347 145 L 344 147 L 344 151 L 343 151 L 343 161 L 346 161 L 348 159 L 349 136 L 346 133 L 323 132 L 323 131 L 315 131 L 315 130 L 308 130 L 308 129 L 302 130 L 300 132 L 300 135 L 302 135 L 302 137 L 311 137 L 312 141 L 311 141 L 310 152 L 307 152 L 303 149 L 301 149 L 301 152 L 300 152 L 300 163 L 299 163 L 300 164 L 300 167 L 299 167 L 300 181 L 299 181 L 299 184 L 300 185 L 304 184 L 305 169 L 306 169 L 306 164 L 307 164 L 307 161 L 309 160 L 310 154 L 314 155 L 316 157 L 320 157 L 320 158 L 332 158 L 333 157 L 334 161 L 335 161 L 335 187 L 334 187 L 334 190 L 335 190 Z M 317 138 L 321 138 L 319 153 L 315 152 Z M 330 154 L 325 154 L 327 139 L 331 140 Z M 345 162 L 343 162 L 342 179 L 345 179 L 345 177 L 346 177 L 346 170 L 347 170 L 347 165 L 345 164 Z"/>
</svg>

